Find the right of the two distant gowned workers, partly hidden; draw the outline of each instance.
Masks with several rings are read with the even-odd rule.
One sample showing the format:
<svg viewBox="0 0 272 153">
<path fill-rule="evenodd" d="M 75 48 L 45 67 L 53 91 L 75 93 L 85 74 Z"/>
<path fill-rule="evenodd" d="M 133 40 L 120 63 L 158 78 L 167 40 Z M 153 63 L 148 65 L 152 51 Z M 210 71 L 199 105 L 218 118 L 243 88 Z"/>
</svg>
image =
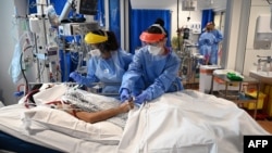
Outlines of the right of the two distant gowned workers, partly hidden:
<svg viewBox="0 0 272 153">
<path fill-rule="evenodd" d="M 215 41 L 212 44 L 212 53 L 210 58 L 210 63 L 213 65 L 218 65 L 218 53 L 219 53 L 219 43 L 223 40 L 223 34 L 215 28 L 214 22 L 208 23 L 211 27 L 211 33 L 215 37 Z"/>
</svg>

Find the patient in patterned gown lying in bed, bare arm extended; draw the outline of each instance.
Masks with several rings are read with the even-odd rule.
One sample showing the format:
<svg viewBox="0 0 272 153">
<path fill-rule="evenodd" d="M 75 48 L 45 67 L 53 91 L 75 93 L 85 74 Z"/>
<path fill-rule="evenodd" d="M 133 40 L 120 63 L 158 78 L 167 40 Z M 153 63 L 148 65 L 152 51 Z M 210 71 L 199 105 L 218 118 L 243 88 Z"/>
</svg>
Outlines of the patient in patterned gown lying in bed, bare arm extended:
<svg viewBox="0 0 272 153">
<path fill-rule="evenodd" d="M 42 92 L 35 93 L 33 100 L 26 105 L 28 107 L 49 106 L 65 111 L 86 123 L 94 124 L 107 120 L 122 128 L 125 126 L 127 112 L 134 109 L 132 101 L 121 104 L 114 98 L 106 98 L 65 86 L 54 86 L 42 90 Z"/>
</svg>

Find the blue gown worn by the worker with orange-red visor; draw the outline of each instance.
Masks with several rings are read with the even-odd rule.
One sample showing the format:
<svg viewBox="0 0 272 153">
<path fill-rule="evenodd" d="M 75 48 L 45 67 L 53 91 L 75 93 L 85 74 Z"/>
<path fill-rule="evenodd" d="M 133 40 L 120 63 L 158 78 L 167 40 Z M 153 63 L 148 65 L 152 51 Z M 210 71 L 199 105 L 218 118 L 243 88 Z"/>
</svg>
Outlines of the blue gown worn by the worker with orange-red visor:
<svg viewBox="0 0 272 153">
<path fill-rule="evenodd" d="M 172 50 L 165 55 L 152 55 L 147 46 L 143 47 L 124 74 L 120 91 L 125 88 L 136 97 L 145 90 L 152 100 L 164 92 L 182 90 L 180 65 L 181 59 Z"/>
</svg>

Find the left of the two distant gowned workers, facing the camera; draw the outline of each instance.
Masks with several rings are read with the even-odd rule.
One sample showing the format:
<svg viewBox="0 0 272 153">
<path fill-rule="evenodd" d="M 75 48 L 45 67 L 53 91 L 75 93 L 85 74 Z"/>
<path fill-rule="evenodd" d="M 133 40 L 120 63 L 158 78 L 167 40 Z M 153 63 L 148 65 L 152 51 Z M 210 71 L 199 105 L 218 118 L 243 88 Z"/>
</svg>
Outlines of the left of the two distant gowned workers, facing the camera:
<svg viewBox="0 0 272 153">
<path fill-rule="evenodd" d="M 205 56 L 206 65 L 210 64 L 217 65 L 217 63 L 214 63 L 214 52 L 212 50 L 212 47 L 214 46 L 217 38 L 211 33 L 211 30 L 212 30 L 211 24 L 208 23 L 205 28 L 205 33 L 202 33 L 198 39 L 199 53 Z"/>
</svg>

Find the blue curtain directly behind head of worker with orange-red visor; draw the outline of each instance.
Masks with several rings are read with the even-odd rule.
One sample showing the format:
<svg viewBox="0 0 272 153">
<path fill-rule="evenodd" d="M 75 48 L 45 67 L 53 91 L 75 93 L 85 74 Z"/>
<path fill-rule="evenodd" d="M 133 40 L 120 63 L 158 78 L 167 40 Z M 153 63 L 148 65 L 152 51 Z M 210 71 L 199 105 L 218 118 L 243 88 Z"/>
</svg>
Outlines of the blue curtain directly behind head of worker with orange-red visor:
<svg viewBox="0 0 272 153">
<path fill-rule="evenodd" d="M 129 21 L 129 51 L 135 52 L 135 49 L 141 47 L 139 36 L 160 17 L 164 21 L 164 27 L 170 38 L 171 12 L 169 10 L 131 10 Z M 170 46 L 170 39 L 168 39 Z"/>
</svg>

